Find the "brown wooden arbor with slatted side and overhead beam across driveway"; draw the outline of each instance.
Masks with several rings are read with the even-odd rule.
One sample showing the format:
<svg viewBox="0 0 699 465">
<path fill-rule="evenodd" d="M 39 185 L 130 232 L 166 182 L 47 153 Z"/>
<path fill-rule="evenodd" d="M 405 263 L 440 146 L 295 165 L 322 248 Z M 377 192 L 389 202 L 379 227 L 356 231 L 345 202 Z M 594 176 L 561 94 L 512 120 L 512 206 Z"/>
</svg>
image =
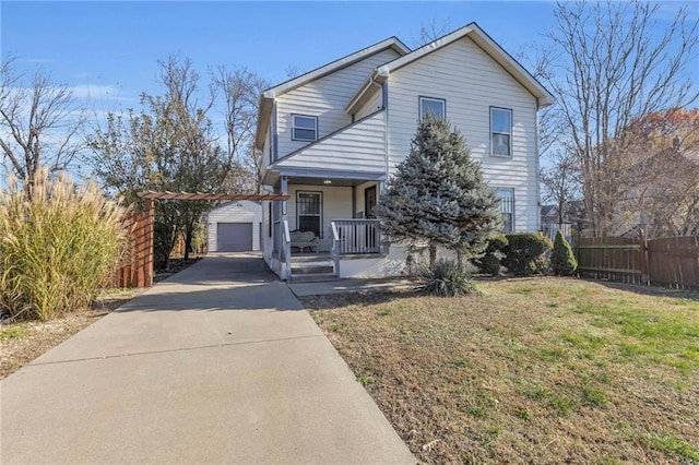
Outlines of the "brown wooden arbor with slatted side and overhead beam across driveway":
<svg viewBox="0 0 699 465">
<path fill-rule="evenodd" d="M 125 218 L 125 225 L 130 231 L 129 263 L 117 273 L 118 286 L 149 287 L 153 284 L 153 223 L 156 200 L 198 200 L 198 201 L 285 201 L 287 194 L 229 194 L 229 193 L 188 193 L 188 192 L 139 192 L 143 199 L 143 212 L 134 213 Z"/>
</svg>

